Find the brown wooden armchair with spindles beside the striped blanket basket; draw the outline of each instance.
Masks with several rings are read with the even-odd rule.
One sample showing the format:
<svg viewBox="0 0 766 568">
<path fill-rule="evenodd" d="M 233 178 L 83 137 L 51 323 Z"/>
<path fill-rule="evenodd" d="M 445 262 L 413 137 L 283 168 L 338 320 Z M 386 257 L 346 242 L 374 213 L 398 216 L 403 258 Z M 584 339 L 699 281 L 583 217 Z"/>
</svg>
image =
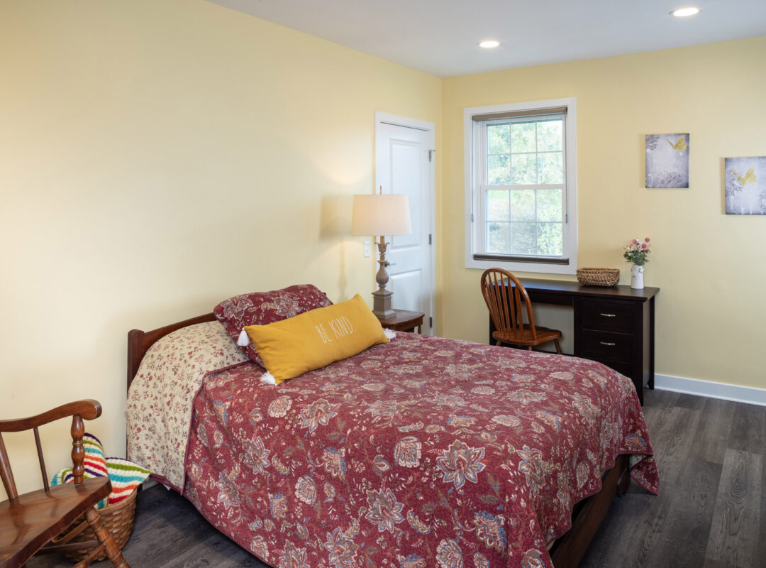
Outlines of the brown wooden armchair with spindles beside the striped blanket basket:
<svg viewBox="0 0 766 568">
<path fill-rule="evenodd" d="M 129 568 L 95 508 L 96 504 L 112 491 L 109 478 L 83 479 L 85 473 L 83 419 L 93 420 L 100 415 L 101 405 L 97 401 L 80 400 L 29 418 L 0 420 L 0 477 L 2 477 L 5 493 L 8 494 L 8 501 L 0 503 L 0 568 L 21 568 L 36 553 L 82 549 L 90 546 L 95 547 L 93 552 L 75 568 L 85 568 L 104 550 L 106 550 L 106 557 L 111 560 L 115 568 Z M 65 483 L 51 488 L 45 471 L 38 427 L 68 416 L 72 417 L 74 483 Z M 23 432 L 30 429 L 34 430 L 34 441 L 38 447 L 44 489 L 20 495 L 16 490 L 8 452 L 5 451 L 5 443 L 2 440 L 2 432 Z M 85 515 L 88 524 L 96 533 L 97 541 L 49 544 L 81 514 Z"/>
</svg>

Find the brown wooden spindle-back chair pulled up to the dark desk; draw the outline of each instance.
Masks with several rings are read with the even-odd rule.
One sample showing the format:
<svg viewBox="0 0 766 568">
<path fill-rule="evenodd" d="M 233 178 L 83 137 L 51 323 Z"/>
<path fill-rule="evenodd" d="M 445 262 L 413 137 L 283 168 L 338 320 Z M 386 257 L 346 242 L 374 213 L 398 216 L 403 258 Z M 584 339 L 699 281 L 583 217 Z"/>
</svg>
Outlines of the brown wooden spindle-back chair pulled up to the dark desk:
<svg viewBox="0 0 766 568">
<path fill-rule="evenodd" d="M 552 341 L 556 353 L 561 353 L 558 344 L 561 331 L 535 326 L 532 301 L 517 277 L 502 268 L 489 268 L 481 275 L 481 293 L 495 324 L 493 339 L 497 345 L 506 343 L 532 351 L 532 347 Z M 524 323 L 524 312 L 527 323 Z"/>
</svg>

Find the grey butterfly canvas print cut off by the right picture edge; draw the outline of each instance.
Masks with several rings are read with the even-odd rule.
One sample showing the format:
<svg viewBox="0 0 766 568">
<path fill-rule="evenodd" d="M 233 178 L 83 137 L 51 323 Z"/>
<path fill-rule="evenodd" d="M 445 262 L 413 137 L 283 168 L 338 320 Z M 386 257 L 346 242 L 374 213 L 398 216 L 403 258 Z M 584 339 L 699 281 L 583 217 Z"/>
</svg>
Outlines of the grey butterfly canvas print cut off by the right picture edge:
<svg viewBox="0 0 766 568">
<path fill-rule="evenodd" d="M 726 158 L 726 215 L 766 215 L 766 156 Z"/>
</svg>

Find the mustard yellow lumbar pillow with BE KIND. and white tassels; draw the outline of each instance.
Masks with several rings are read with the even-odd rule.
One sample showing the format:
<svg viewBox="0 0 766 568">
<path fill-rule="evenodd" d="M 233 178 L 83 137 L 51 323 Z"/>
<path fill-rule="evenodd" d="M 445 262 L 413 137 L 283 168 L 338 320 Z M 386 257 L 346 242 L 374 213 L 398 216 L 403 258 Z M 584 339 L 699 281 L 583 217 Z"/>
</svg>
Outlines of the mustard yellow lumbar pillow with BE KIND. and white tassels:
<svg viewBox="0 0 766 568">
<path fill-rule="evenodd" d="M 359 294 L 339 304 L 244 330 L 277 385 L 388 343 L 380 321 Z"/>
</svg>

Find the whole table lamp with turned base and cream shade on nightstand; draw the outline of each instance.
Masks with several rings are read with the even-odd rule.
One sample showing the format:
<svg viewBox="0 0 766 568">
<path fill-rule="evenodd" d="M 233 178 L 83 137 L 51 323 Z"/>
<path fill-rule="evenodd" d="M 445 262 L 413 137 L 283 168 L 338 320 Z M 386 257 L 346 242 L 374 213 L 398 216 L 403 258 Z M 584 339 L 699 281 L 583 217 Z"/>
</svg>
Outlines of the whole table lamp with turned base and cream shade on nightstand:
<svg viewBox="0 0 766 568">
<path fill-rule="evenodd" d="M 372 293 L 372 313 L 381 319 L 392 317 L 396 314 L 391 308 L 391 296 L 393 292 L 385 289 L 388 284 L 388 261 L 385 259 L 385 251 L 390 243 L 385 241 L 385 235 L 411 235 L 410 225 L 410 202 L 407 195 L 388 194 L 383 195 L 382 190 L 378 195 L 354 195 L 354 207 L 351 217 L 351 234 L 361 236 L 380 237 L 378 241 L 378 274 L 375 281 L 378 290 Z"/>
</svg>

